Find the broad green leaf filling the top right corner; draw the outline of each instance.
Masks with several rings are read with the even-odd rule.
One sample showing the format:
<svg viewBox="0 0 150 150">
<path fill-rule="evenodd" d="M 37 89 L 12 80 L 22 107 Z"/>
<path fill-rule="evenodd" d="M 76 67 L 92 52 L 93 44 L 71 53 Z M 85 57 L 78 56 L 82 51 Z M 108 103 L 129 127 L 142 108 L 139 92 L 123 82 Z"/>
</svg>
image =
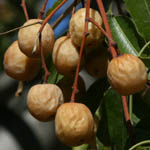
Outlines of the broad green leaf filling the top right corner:
<svg viewBox="0 0 150 150">
<path fill-rule="evenodd" d="M 125 0 L 139 34 L 150 40 L 150 0 Z"/>
</svg>

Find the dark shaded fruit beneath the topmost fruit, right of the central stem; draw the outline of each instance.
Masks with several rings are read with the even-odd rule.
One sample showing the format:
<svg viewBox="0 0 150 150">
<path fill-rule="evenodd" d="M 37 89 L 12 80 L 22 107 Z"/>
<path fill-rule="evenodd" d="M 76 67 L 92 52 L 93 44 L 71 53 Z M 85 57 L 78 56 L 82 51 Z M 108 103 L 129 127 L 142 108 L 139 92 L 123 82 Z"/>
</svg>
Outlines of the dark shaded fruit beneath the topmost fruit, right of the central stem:
<svg viewBox="0 0 150 150">
<path fill-rule="evenodd" d="M 104 47 L 98 47 L 87 54 L 85 60 L 86 71 L 95 78 L 103 78 L 107 74 L 108 52 Z"/>
</svg>

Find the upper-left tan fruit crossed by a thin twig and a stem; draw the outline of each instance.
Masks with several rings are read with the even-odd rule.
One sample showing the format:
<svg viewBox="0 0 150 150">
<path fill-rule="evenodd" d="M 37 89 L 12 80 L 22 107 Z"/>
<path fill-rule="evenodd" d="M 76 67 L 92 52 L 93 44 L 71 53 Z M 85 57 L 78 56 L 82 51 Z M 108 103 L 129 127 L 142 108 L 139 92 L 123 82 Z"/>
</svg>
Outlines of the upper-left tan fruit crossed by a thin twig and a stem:
<svg viewBox="0 0 150 150">
<path fill-rule="evenodd" d="M 42 20 L 30 19 L 27 22 L 25 22 L 23 26 L 40 22 L 40 21 Z M 38 45 L 36 51 L 32 53 L 35 40 L 38 37 L 38 32 L 40 27 L 41 24 L 38 23 L 19 30 L 18 33 L 19 47 L 21 51 L 28 57 L 40 57 L 40 50 Z M 48 54 L 52 51 L 53 45 L 54 45 L 54 32 L 51 26 L 47 23 L 42 31 L 42 48 L 43 48 L 44 56 L 48 56 Z"/>
</svg>

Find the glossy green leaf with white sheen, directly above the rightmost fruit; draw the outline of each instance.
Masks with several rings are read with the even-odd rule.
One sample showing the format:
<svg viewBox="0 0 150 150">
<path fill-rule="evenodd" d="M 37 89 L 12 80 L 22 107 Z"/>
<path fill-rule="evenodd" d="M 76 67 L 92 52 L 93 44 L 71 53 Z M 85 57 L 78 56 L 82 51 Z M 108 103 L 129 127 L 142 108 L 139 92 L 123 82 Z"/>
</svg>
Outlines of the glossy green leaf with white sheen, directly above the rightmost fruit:
<svg viewBox="0 0 150 150">
<path fill-rule="evenodd" d="M 120 52 L 138 55 L 140 51 L 138 35 L 131 20 L 123 16 L 110 17 L 109 24 Z"/>
</svg>

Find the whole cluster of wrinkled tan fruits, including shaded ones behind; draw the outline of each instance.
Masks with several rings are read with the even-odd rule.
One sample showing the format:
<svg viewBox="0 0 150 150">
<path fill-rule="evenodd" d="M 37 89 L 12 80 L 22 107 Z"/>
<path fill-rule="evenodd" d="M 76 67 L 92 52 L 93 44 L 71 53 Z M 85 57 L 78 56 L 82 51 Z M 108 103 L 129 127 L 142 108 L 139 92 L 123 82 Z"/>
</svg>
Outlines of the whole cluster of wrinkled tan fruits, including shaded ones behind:
<svg viewBox="0 0 150 150">
<path fill-rule="evenodd" d="M 95 121 L 90 110 L 81 103 L 64 103 L 71 97 L 71 85 L 80 59 L 85 11 L 85 8 L 81 8 L 72 16 L 69 36 L 60 37 L 55 43 L 52 28 L 49 24 L 45 25 L 41 35 L 44 56 L 47 57 L 52 53 L 56 69 L 67 79 L 65 82 L 61 81 L 63 84 L 58 83 L 58 85 L 34 85 L 27 95 L 30 113 L 44 122 L 55 118 L 58 138 L 70 146 L 91 143 L 96 135 Z M 89 14 L 90 18 L 102 26 L 102 18 L 98 11 L 90 8 Z M 34 46 L 41 20 L 30 19 L 24 26 L 36 22 L 38 23 L 19 30 L 18 41 L 8 48 L 4 56 L 6 73 L 19 81 L 32 80 L 40 69 L 39 43 L 36 43 L 36 49 Z M 102 44 L 103 33 L 93 23 L 88 23 L 88 33 L 85 41 L 85 57 L 82 58 L 81 66 L 85 66 L 87 72 L 95 78 L 107 75 L 112 88 L 121 95 L 134 94 L 142 90 L 147 81 L 144 63 L 131 54 L 117 56 L 109 62 L 107 49 Z M 69 88 L 65 85 L 67 82 Z"/>
</svg>

